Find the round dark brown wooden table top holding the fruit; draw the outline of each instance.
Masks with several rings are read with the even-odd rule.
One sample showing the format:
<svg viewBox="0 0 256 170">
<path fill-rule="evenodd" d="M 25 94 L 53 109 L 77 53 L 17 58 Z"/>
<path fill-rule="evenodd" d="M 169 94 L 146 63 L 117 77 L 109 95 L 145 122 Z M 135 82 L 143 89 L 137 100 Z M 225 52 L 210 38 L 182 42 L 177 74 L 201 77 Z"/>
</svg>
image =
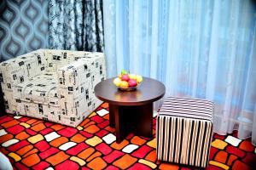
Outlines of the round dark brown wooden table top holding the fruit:
<svg viewBox="0 0 256 170">
<path fill-rule="evenodd" d="M 136 90 L 121 91 L 113 84 L 114 78 L 99 82 L 94 88 L 96 97 L 111 105 L 146 105 L 161 99 L 166 93 L 162 82 L 148 77 L 143 77 Z"/>
</svg>

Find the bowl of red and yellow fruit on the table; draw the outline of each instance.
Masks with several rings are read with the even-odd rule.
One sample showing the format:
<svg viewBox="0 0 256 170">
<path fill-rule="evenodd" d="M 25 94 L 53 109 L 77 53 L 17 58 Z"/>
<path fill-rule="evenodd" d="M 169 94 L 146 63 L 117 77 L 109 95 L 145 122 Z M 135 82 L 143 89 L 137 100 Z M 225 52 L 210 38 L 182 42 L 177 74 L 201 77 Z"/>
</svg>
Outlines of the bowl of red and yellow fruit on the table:
<svg viewBox="0 0 256 170">
<path fill-rule="evenodd" d="M 143 77 L 140 75 L 129 74 L 122 70 L 119 77 L 113 79 L 113 84 L 123 91 L 136 90 L 136 88 L 143 82 Z"/>
</svg>

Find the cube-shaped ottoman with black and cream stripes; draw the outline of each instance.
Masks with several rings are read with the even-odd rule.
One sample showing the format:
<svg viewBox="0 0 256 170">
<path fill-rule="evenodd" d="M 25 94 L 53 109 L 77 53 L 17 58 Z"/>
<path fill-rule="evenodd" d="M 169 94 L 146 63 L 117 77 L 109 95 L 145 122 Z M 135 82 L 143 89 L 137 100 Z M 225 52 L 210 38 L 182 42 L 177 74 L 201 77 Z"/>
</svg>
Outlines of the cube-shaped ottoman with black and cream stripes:
<svg viewBox="0 0 256 170">
<path fill-rule="evenodd" d="M 212 116 L 211 101 L 167 98 L 157 116 L 157 158 L 207 167 L 212 140 Z"/>
</svg>

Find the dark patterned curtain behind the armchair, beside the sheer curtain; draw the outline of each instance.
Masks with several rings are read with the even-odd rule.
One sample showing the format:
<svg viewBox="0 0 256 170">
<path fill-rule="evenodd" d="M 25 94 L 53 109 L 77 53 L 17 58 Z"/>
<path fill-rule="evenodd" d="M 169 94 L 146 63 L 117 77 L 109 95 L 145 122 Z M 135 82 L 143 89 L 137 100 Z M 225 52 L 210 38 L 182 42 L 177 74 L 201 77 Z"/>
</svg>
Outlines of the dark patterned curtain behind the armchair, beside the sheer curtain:
<svg viewBox="0 0 256 170">
<path fill-rule="evenodd" d="M 49 48 L 102 52 L 102 0 L 49 0 Z"/>
</svg>

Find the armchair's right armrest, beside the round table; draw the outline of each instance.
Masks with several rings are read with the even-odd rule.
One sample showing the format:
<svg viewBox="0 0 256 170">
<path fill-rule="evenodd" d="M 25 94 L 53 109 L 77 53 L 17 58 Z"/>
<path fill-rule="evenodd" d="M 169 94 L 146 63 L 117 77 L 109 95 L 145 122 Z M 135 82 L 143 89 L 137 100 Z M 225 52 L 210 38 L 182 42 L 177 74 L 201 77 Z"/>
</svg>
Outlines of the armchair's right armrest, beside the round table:
<svg viewBox="0 0 256 170">
<path fill-rule="evenodd" d="M 61 112 L 71 119 L 84 119 L 101 103 L 94 87 L 106 78 L 104 55 L 89 54 L 57 70 Z"/>
</svg>

